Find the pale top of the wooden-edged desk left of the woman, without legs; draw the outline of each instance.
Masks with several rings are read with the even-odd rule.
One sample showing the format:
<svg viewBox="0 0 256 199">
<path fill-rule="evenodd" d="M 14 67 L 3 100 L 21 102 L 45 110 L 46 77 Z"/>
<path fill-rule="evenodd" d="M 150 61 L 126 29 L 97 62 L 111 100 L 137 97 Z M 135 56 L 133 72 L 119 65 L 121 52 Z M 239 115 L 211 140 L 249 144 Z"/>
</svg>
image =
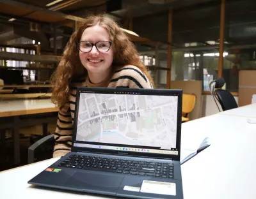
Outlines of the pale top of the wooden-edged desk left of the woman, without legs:
<svg viewBox="0 0 256 199">
<path fill-rule="evenodd" d="M 58 111 L 51 99 L 17 99 L 0 101 L 0 117 Z"/>
</svg>

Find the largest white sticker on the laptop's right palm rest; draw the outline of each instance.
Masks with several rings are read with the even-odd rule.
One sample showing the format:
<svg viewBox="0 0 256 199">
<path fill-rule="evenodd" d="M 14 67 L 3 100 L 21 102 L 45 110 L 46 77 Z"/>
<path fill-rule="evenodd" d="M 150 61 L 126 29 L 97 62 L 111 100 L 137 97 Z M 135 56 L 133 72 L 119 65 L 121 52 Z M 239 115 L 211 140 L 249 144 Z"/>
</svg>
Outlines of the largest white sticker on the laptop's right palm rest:
<svg viewBox="0 0 256 199">
<path fill-rule="evenodd" d="M 143 181 L 140 192 L 175 196 L 176 184 L 173 182 Z"/>
</svg>

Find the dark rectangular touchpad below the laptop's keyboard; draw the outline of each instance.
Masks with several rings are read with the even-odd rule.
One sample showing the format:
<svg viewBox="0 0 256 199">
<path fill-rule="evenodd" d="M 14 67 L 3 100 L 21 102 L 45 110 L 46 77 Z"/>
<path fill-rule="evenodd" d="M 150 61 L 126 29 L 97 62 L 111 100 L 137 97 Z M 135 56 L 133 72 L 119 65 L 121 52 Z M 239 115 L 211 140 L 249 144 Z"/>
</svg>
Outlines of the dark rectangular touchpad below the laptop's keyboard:
<svg viewBox="0 0 256 199">
<path fill-rule="evenodd" d="M 124 177 L 115 173 L 83 173 L 76 172 L 70 177 L 65 185 L 77 189 L 92 189 L 110 191 L 116 193 Z"/>
</svg>

